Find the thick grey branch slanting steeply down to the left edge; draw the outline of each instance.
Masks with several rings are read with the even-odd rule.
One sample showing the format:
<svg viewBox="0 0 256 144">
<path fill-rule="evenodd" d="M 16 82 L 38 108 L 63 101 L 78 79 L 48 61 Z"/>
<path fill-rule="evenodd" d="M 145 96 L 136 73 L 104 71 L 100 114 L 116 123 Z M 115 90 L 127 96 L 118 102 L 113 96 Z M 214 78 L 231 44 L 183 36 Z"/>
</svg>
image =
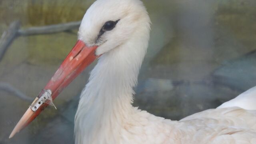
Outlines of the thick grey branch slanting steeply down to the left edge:
<svg viewBox="0 0 256 144">
<path fill-rule="evenodd" d="M 20 28 L 20 22 L 15 21 L 10 24 L 8 30 L 6 30 L 0 39 L 0 61 L 2 60 L 8 46 L 12 43 L 17 36 L 17 32 Z"/>
</svg>

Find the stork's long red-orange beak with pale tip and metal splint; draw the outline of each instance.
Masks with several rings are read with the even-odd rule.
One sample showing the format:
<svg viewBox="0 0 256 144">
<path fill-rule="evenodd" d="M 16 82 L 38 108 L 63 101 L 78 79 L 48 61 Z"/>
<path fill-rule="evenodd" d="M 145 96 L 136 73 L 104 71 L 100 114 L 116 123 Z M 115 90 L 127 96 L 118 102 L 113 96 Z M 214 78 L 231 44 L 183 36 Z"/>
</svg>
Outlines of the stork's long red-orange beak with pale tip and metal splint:
<svg viewBox="0 0 256 144">
<path fill-rule="evenodd" d="M 78 40 L 74 48 L 55 72 L 54 76 L 52 76 L 51 80 L 44 87 L 44 90 L 40 92 L 12 130 L 9 138 L 12 138 L 17 132 L 30 124 L 46 106 L 53 104 L 52 100 L 54 100 L 88 65 L 98 58 L 98 56 L 95 55 L 97 47 L 98 46 L 87 47 L 82 40 Z"/>
</svg>

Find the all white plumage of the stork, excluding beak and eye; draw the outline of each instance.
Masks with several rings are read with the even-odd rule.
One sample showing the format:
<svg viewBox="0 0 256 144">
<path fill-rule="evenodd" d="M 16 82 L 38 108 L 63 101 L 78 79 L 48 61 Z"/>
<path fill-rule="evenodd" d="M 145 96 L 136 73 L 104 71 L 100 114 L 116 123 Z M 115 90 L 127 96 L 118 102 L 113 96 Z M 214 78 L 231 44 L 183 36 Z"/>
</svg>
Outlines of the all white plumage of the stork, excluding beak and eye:
<svg viewBox="0 0 256 144">
<path fill-rule="evenodd" d="M 109 20 L 119 22 L 95 40 Z M 97 0 L 87 10 L 78 38 L 98 45 L 96 55 L 102 56 L 80 97 L 76 144 L 256 144 L 256 88 L 180 121 L 132 106 L 149 33 L 140 0 Z"/>
</svg>

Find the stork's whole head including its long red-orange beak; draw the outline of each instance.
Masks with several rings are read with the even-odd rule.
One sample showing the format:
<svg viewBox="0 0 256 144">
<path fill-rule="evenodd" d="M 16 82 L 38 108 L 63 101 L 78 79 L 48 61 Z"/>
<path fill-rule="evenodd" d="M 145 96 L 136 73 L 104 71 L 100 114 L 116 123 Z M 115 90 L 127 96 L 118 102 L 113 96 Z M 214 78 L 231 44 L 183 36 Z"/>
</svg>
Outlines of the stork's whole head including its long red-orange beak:
<svg viewBox="0 0 256 144">
<path fill-rule="evenodd" d="M 104 53 L 125 44 L 137 30 L 149 29 L 150 18 L 140 0 L 97 0 L 87 10 L 78 31 L 78 42 L 44 90 L 32 102 L 9 138 L 26 127 L 60 92 Z M 148 37 L 148 36 L 147 36 Z"/>
</svg>

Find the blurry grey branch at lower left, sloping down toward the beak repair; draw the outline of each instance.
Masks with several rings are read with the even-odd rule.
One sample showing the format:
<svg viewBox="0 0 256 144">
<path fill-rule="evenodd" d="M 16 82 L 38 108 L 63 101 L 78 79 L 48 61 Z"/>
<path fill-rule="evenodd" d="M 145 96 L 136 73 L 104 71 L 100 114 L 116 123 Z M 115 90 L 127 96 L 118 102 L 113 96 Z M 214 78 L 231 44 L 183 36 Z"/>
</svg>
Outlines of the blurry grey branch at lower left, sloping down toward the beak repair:
<svg viewBox="0 0 256 144">
<path fill-rule="evenodd" d="M 33 100 L 32 98 L 26 96 L 26 94 L 23 94 L 20 90 L 14 88 L 10 84 L 0 82 L 0 90 L 10 92 L 10 93 L 14 94 L 14 96 L 17 96 L 18 98 L 20 98 L 22 100 L 26 100 L 28 102 L 32 102 L 32 100 Z"/>
</svg>

